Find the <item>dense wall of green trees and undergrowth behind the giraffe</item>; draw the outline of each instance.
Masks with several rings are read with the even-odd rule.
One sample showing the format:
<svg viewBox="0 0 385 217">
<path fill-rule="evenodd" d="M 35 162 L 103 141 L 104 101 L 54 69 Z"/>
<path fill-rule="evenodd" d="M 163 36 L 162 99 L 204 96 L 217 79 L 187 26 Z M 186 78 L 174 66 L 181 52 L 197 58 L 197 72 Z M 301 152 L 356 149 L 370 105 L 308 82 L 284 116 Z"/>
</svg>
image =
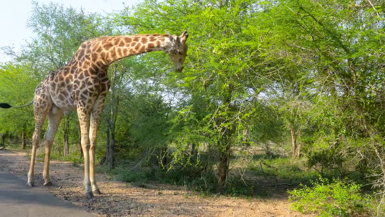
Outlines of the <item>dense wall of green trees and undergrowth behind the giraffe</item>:
<svg viewBox="0 0 385 217">
<path fill-rule="evenodd" d="M 162 52 L 110 66 L 100 164 L 121 180 L 208 192 L 254 195 L 319 173 L 383 194 L 384 7 L 380 0 L 146 0 L 103 18 L 35 2 L 28 27 L 36 37 L 20 54 L 2 48 L 14 60 L 1 65 L 0 100 L 29 102 L 34 86 L 85 39 L 186 29 L 182 73 Z M 3 138 L 29 139 L 32 120 L 31 108 L 1 111 Z M 62 122 L 54 152 L 67 138 L 74 159 L 77 117 Z M 277 156 L 285 165 L 282 158 L 292 158 L 289 167 L 278 170 Z"/>
</svg>

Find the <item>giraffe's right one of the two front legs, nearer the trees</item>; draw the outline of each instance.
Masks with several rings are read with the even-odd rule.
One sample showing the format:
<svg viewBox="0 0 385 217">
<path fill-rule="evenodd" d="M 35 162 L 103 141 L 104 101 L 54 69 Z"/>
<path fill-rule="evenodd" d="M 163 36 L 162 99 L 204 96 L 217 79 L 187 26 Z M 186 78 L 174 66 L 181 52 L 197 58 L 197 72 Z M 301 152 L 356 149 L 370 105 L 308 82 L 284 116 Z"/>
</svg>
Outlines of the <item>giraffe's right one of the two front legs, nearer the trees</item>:
<svg viewBox="0 0 385 217">
<path fill-rule="evenodd" d="M 90 120 L 90 181 L 91 181 L 91 187 L 92 192 L 94 194 L 101 194 L 99 187 L 96 184 L 96 178 L 95 178 L 95 149 L 96 149 L 96 134 L 97 134 L 97 128 L 100 121 L 100 114 L 101 110 L 96 110 L 91 113 L 91 120 Z"/>
</svg>

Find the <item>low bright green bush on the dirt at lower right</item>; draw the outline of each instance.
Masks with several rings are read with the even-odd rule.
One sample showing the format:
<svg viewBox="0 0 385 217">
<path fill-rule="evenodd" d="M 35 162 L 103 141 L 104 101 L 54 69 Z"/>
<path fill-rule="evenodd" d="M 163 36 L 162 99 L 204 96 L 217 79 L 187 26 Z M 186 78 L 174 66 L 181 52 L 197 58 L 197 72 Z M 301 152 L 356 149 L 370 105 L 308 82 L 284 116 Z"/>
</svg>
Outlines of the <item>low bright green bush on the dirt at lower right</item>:
<svg viewBox="0 0 385 217">
<path fill-rule="evenodd" d="M 316 213 L 321 217 L 351 217 L 373 210 L 370 197 L 360 194 L 361 186 L 347 179 L 326 178 L 310 181 L 312 187 L 288 191 L 292 209 L 301 213 Z"/>
</svg>

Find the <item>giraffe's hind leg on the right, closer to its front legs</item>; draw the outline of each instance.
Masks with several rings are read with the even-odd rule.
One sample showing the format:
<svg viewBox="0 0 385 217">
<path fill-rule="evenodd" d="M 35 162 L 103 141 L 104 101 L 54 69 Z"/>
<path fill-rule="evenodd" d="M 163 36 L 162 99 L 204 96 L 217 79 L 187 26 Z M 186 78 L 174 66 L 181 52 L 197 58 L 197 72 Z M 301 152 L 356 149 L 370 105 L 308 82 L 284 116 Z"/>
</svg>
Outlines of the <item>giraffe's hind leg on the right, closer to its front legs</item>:
<svg viewBox="0 0 385 217">
<path fill-rule="evenodd" d="M 53 111 L 55 111 L 55 113 L 53 113 Z M 45 186 L 52 185 L 52 182 L 49 176 L 51 148 L 52 148 L 52 143 L 54 142 L 57 128 L 59 127 L 60 120 L 62 120 L 62 117 L 63 117 L 63 110 L 59 108 L 52 109 L 52 111 L 48 115 L 48 128 L 44 135 L 45 159 L 44 159 L 43 179 L 44 179 Z"/>
</svg>

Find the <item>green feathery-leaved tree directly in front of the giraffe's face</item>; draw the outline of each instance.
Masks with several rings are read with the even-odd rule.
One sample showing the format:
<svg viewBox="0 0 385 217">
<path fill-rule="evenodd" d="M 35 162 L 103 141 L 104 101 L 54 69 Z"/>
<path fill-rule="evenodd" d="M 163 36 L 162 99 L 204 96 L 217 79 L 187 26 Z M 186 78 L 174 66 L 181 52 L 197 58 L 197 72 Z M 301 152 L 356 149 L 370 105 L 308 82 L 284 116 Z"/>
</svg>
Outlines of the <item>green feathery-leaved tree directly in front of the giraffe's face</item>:
<svg viewBox="0 0 385 217">
<path fill-rule="evenodd" d="M 253 5 L 233 1 L 232 7 L 228 8 L 226 5 L 230 2 L 226 1 L 206 3 L 182 1 L 175 5 L 172 1 L 146 1 L 134 8 L 135 13 L 123 11 L 115 21 L 117 24 L 131 24 L 137 33 L 188 29 L 192 37 L 189 38 L 187 66 L 183 75 L 167 74 L 166 89 L 177 90 L 181 98 L 199 96 L 200 100 L 208 103 L 203 108 L 206 115 L 201 116 L 196 124 L 186 124 L 183 129 L 186 131 L 186 127 L 192 127 L 190 138 L 204 135 L 204 140 L 193 143 L 209 144 L 216 150 L 218 182 L 222 187 L 228 177 L 232 148 L 242 146 L 248 117 L 255 111 L 254 99 L 268 88 L 271 80 L 276 79 L 274 71 L 278 66 L 265 61 L 260 51 L 268 48 L 269 44 L 254 37 L 256 32 L 247 27 L 259 14 Z M 258 47 L 259 52 L 256 51 Z M 154 56 L 161 60 L 152 70 L 159 73 L 166 70 L 162 66 L 166 56 L 153 54 L 146 55 L 146 58 Z M 188 116 L 194 117 L 196 113 L 189 107 L 194 105 L 177 108 L 184 111 L 179 117 L 192 120 Z M 182 138 L 173 140 L 183 141 Z M 179 148 L 185 149 L 186 146 L 180 144 Z"/>
</svg>

